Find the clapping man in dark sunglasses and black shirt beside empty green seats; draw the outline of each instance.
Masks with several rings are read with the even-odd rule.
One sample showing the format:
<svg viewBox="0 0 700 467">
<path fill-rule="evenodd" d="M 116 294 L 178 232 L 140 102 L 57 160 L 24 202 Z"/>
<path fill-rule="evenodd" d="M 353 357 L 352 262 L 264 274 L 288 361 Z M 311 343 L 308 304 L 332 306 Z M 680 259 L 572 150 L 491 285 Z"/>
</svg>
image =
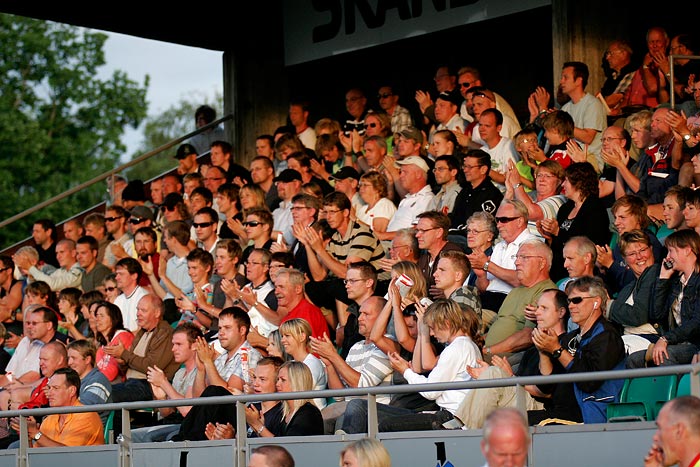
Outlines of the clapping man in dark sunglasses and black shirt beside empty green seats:
<svg viewBox="0 0 700 467">
<path fill-rule="evenodd" d="M 598 277 L 581 277 L 571 284 L 569 312 L 571 320 L 579 328 L 561 339 L 554 333 L 539 330 L 532 334 L 532 341 L 537 348 L 551 356 L 550 359 L 540 360 L 540 372 L 543 375 L 555 372 L 555 361 L 567 373 L 624 369 L 625 345 L 622 337 L 603 316 L 607 300 L 605 284 Z M 581 408 L 583 422 L 605 423 L 607 405 L 619 402 L 623 384 L 623 379 L 574 383 L 574 393 Z"/>
</svg>

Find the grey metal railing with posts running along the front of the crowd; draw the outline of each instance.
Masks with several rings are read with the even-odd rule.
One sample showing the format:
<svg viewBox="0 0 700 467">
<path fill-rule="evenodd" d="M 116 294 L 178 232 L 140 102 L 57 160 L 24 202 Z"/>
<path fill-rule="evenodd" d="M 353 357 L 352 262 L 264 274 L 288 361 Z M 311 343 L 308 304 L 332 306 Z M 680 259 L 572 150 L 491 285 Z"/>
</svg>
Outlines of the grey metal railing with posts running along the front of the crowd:
<svg viewBox="0 0 700 467">
<path fill-rule="evenodd" d="M 119 411 L 122 420 L 122 435 L 123 439 L 119 442 L 119 458 L 122 467 L 131 465 L 129 459 L 129 446 L 131 444 L 131 419 L 130 410 L 138 409 L 158 409 L 165 407 L 177 406 L 200 406 L 214 404 L 236 404 L 236 455 L 238 456 L 238 464 L 246 465 L 247 447 L 247 430 L 245 422 L 245 406 L 247 402 L 260 401 L 279 401 L 289 399 L 314 399 L 314 398 L 329 398 L 329 397 L 347 397 L 347 396 L 367 396 L 368 400 L 368 415 L 367 427 L 368 437 L 376 438 L 378 430 L 378 416 L 376 397 L 377 395 L 386 394 L 405 394 L 423 391 L 445 391 L 456 389 L 481 389 L 481 388 L 497 388 L 506 386 L 516 386 L 518 392 L 524 394 L 524 386 L 526 385 L 544 385 L 555 383 L 575 383 L 580 381 L 600 381 L 611 379 L 630 379 L 647 376 L 662 376 L 662 375 L 681 375 L 689 373 L 691 375 L 691 394 L 700 397 L 700 364 L 695 365 L 675 365 L 656 368 L 641 368 L 628 370 L 613 370 L 613 371 L 598 371 L 590 373 L 573 373 L 559 374 L 550 376 L 517 376 L 500 379 L 484 379 L 471 380 L 450 383 L 430 383 L 430 384 L 402 384 L 393 386 L 373 386 L 370 388 L 351 388 L 351 389 L 327 389 L 323 391 L 305 391 L 293 393 L 272 393 L 272 394 L 251 394 L 240 396 L 215 396 L 215 397 L 199 397 L 194 399 L 177 399 L 177 400 L 161 400 L 161 401 L 139 401 L 139 402 L 124 402 L 113 404 L 88 405 L 81 407 L 51 407 L 42 409 L 28 410 L 8 410 L 0 412 L 0 418 L 3 417 L 19 417 L 20 427 L 20 444 L 18 467 L 26 467 L 27 465 L 27 450 L 29 448 L 29 439 L 27 433 L 27 417 L 37 415 L 50 414 L 66 414 L 66 413 L 83 413 L 83 412 L 102 412 L 109 410 Z M 518 400 L 524 402 L 524 397 L 518 397 Z M 521 410 L 525 410 L 524 405 L 519 405 Z M 119 415 L 119 414 L 115 414 Z"/>
</svg>

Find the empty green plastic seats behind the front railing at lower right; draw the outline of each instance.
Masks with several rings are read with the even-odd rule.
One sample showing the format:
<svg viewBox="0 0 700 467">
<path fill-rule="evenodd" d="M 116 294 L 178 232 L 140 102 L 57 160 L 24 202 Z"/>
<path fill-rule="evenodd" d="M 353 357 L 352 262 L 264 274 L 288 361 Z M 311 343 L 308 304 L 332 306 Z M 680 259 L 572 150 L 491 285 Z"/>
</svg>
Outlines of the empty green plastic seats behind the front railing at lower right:
<svg viewBox="0 0 700 467">
<path fill-rule="evenodd" d="M 690 395 L 690 373 L 625 380 L 620 402 L 608 405 L 608 423 L 656 420 L 664 403 Z"/>
</svg>

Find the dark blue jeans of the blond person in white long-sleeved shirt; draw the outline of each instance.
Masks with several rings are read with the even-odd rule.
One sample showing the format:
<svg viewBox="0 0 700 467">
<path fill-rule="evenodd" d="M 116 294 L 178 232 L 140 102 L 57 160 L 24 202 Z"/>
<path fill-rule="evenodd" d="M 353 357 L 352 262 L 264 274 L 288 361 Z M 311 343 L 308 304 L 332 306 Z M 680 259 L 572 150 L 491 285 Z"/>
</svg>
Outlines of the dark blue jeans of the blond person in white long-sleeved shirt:
<svg viewBox="0 0 700 467">
<path fill-rule="evenodd" d="M 379 431 L 439 430 L 442 424 L 454 418 L 447 410 L 414 412 L 403 407 L 377 404 Z M 367 401 L 353 399 L 348 402 L 343 416 L 342 430 L 346 433 L 367 432 Z"/>
</svg>

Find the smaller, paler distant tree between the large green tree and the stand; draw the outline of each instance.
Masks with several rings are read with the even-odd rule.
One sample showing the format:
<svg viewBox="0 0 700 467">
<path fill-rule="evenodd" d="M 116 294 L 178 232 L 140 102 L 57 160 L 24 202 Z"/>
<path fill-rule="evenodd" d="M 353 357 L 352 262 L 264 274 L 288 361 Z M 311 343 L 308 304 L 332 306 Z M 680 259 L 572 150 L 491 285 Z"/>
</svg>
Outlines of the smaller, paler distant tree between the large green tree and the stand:
<svg viewBox="0 0 700 467">
<path fill-rule="evenodd" d="M 195 130 L 194 112 L 200 105 L 206 104 L 212 107 L 216 110 L 217 117 L 220 117 L 223 108 L 222 102 L 223 98 L 219 93 L 215 94 L 213 98 L 209 98 L 202 93 L 193 92 L 161 114 L 146 118 L 143 125 L 143 142 L 131 159 L 133 160 L 193 132 Z M 127 178 L 145 182 L 177 167 L 177 160 L 173 156 L 178 146 L 179 144 L 176 144 L 160 154 L 128 168 L 126 170 Z"/>
</svg>

